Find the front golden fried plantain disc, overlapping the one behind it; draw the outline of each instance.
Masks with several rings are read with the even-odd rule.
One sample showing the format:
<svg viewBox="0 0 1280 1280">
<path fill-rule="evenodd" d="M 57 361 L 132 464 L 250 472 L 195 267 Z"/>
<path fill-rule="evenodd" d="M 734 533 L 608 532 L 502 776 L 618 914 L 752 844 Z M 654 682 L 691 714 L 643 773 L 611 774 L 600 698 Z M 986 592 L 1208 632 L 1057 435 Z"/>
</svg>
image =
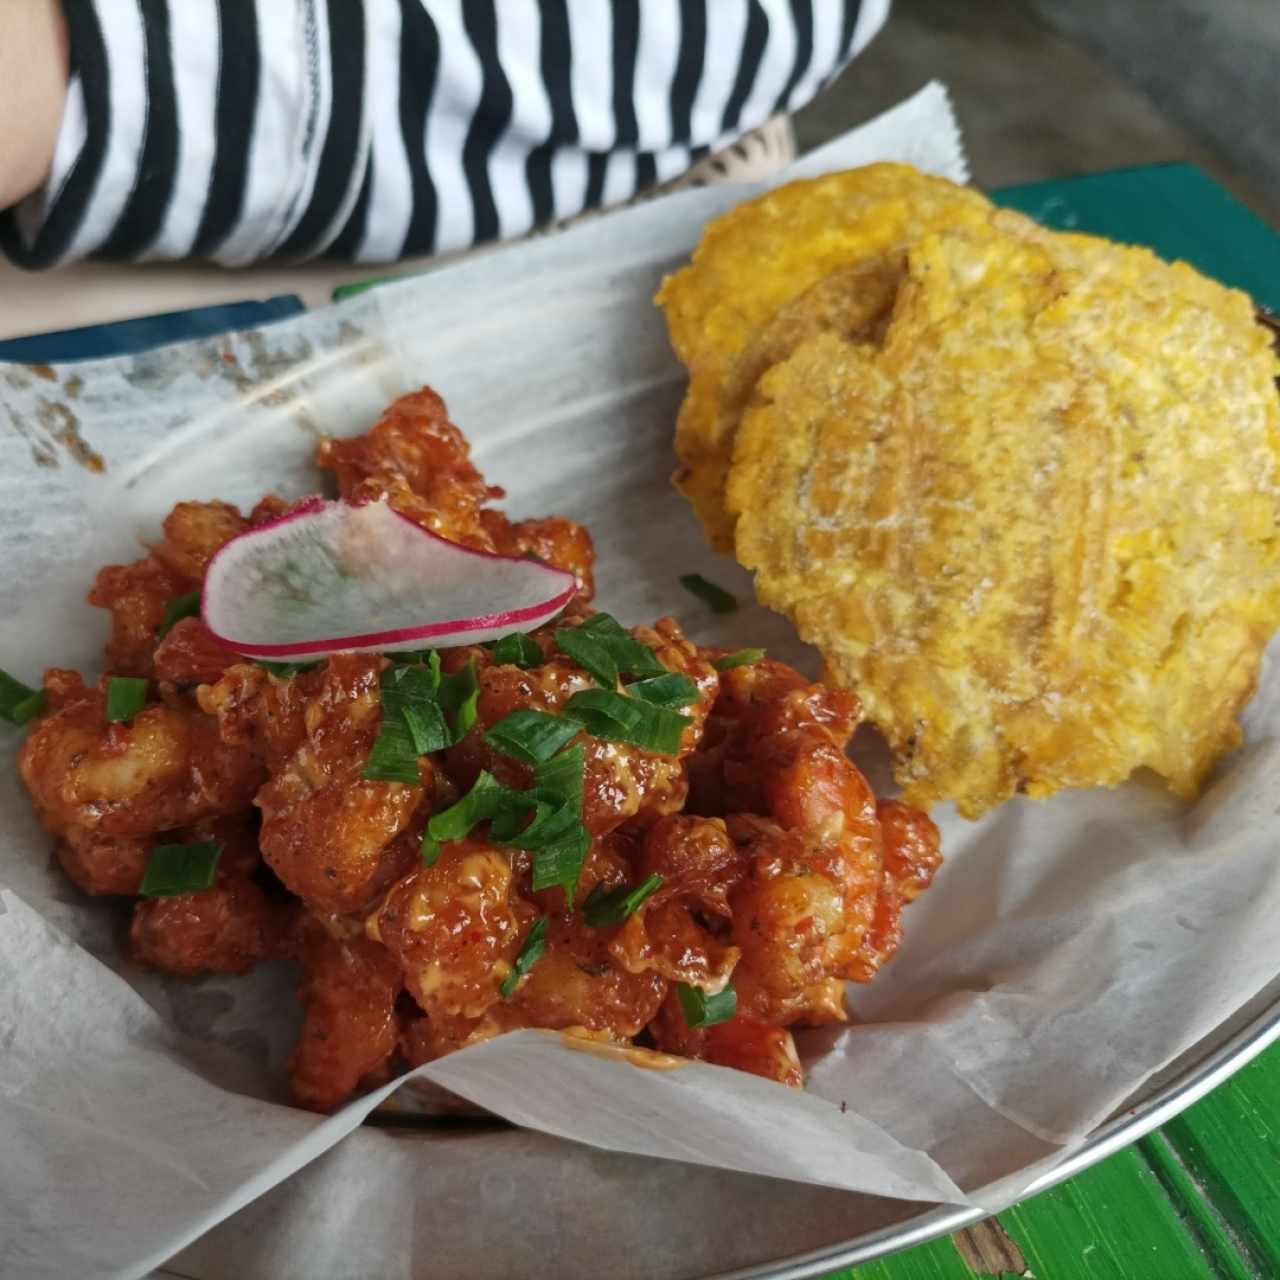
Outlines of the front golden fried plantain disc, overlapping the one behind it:
<svg viewBox="0 0 1280 1280">
<path fill-rule="evenodd" d="M 737 554 L 913 803 L 1193 795 L 1280 623 L 1276 364 L 1243 294 L 1012 218 L 913 244 L 878 346 L 763 376 Z"/>
</svg>

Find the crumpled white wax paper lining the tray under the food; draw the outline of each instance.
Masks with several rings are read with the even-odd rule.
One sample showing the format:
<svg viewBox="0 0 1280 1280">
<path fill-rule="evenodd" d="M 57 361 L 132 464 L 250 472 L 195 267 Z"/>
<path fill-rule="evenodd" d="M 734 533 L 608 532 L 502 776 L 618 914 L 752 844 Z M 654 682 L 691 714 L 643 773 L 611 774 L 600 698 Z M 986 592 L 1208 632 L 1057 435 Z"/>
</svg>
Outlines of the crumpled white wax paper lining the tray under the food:
<svg viewBox="0 0 1280 1280">
<path fill-rule="evenodd" d="M 941 88 L 801 168 L 876 157 L 964 177 Z M 716 618 L 676 584 L 700 571 L 750 599 L 668 484 L 682 376 L 650 298 L 746 193 L 685 192 L 252 333 L 0 366 L 3 664 L 28 680 L 100 669 L 105 616 L 83 604 L 100 564 L 133 558 L 178 499 L 311 490 L 319 434 L 362 430 L 428 381 L 512 513 L 593 530 L 604 608 L 675 613 L 699 640 L 814 671 L 782 618 Z M 289 970 L 177 982 L 125 968 L 122 908 L 61 878 L 5 735 L 5 1274 L 142 1275 L 266 1193 L 188 1249 L 183 1274 L 525 1274 L 554 1239 L 562 1276 L 676 1276 L 883 1225 L 902 1201 L 1006 1196 L 1280 974 L 1277 710 L 1272 668 L 1248 746 L 1192 809 L 1146 783 L 1015 800 L 978 823 L 941 809 L 947 863 L 906 913 L 899 957 L 854 992 L 860 1023 L 800 1034 L 806 1093 L 700 1064 L 637 1069 L 541 1032 L 419 1073 L 541 1134 L 680 1164 L 526 1132 L 357 1129 L 394 1087 L 329 1119 L 283 1105 Z M 874 741 L 861 746 L 883 786 Z M 726 1222 L 726 1188 L 794 1226 L 763 1208 Z"/>
</svg>

